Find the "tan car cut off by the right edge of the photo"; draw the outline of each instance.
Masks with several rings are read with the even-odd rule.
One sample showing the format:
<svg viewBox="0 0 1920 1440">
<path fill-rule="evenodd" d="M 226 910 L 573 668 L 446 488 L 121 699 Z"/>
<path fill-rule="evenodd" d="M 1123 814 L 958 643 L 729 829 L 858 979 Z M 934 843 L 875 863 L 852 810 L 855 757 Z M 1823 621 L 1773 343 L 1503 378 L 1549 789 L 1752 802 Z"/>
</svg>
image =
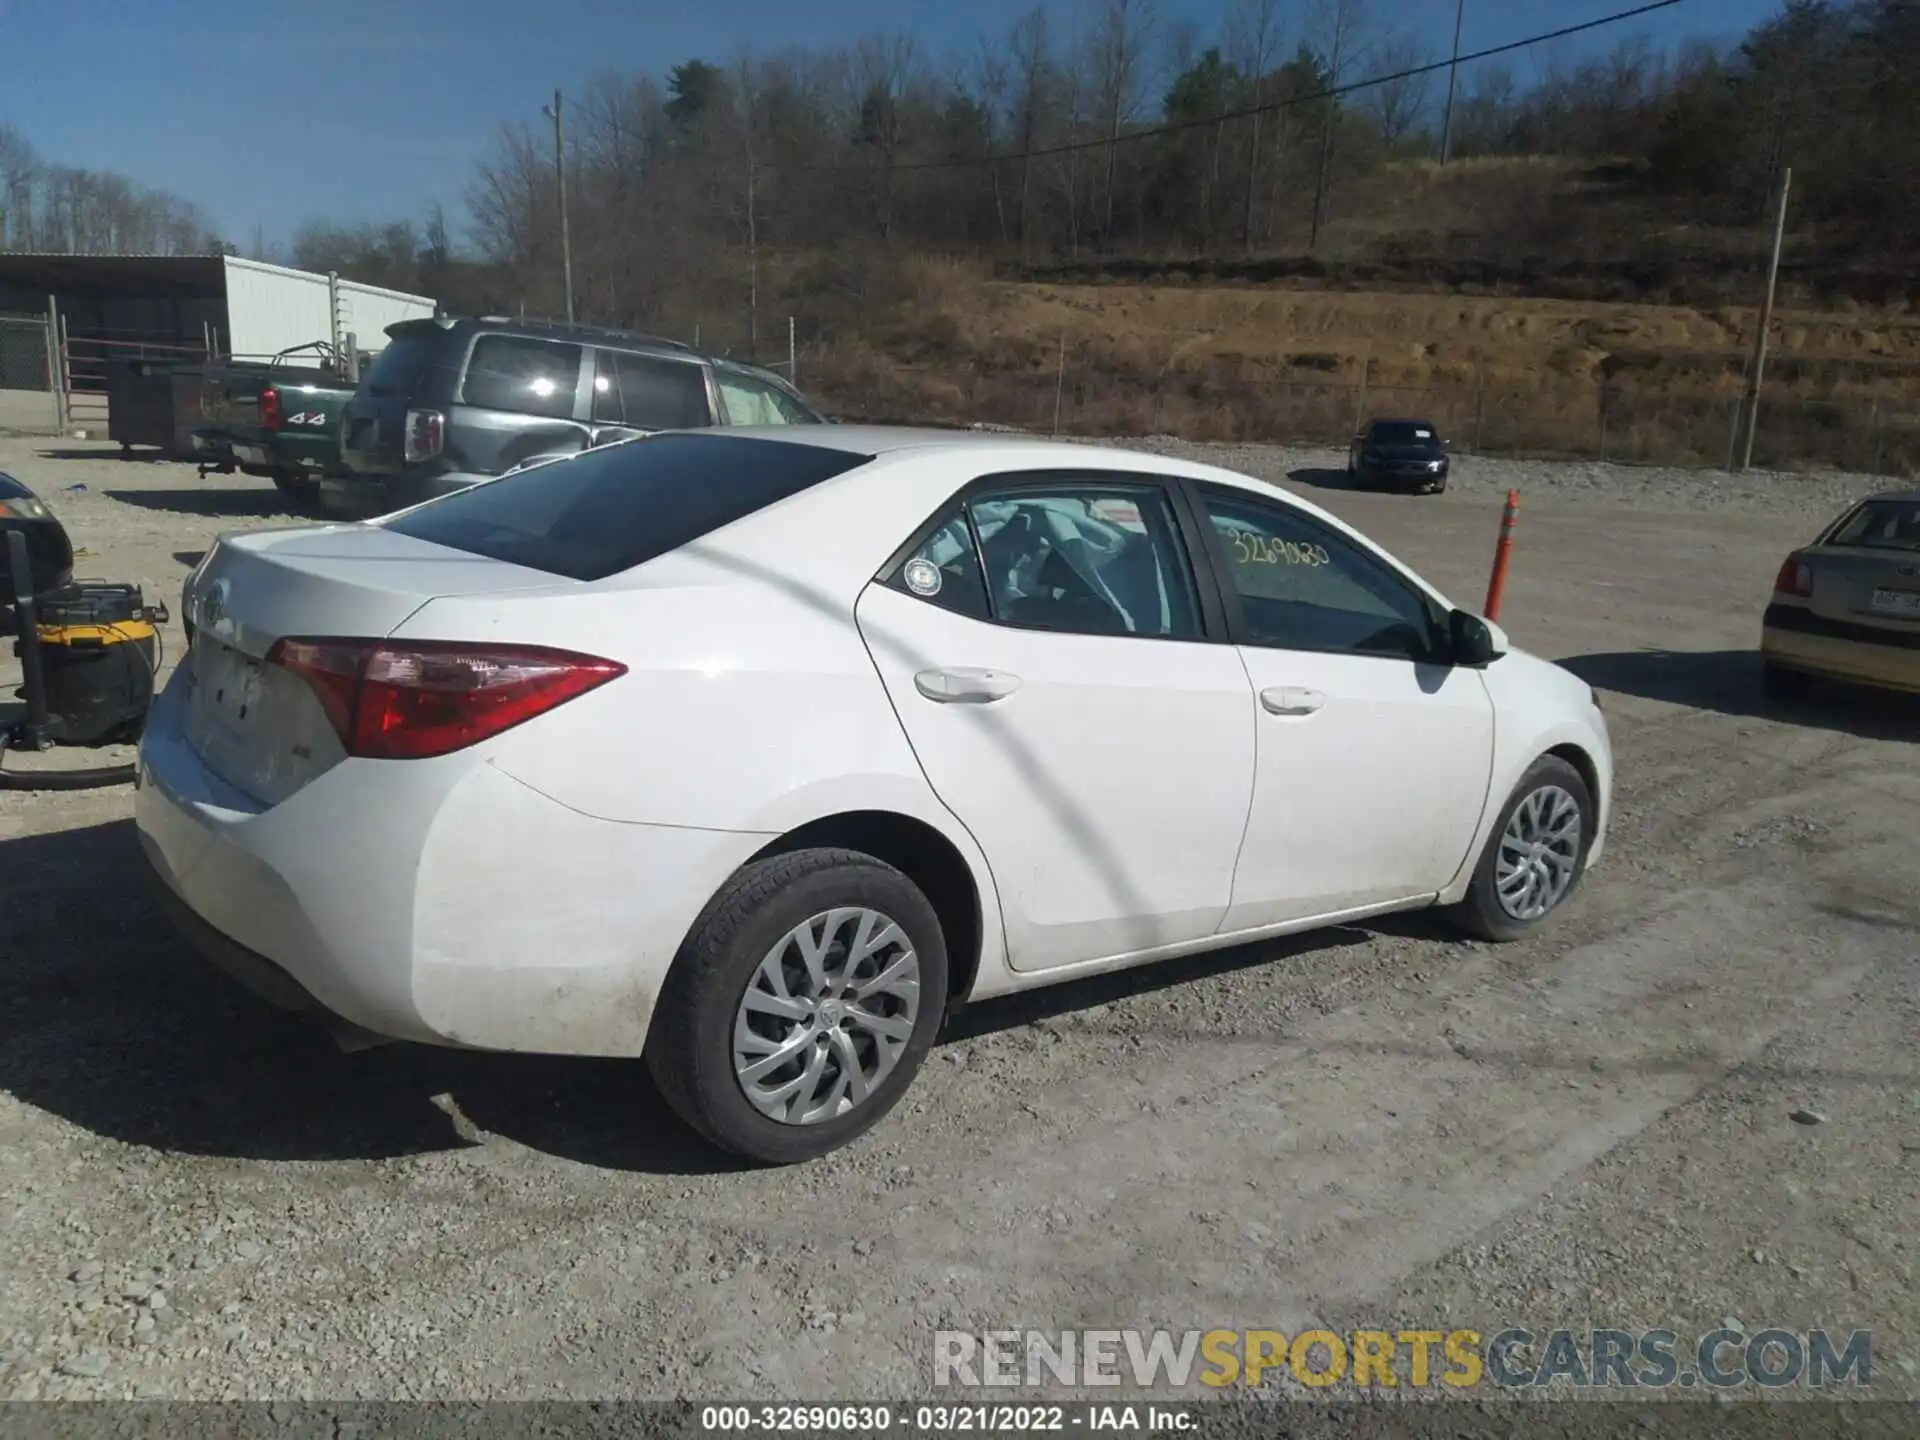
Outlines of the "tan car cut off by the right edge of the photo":
<svg viewBox="0 0 1920 1440">
<path fill-rule="evenodd" d="M 1814 676 L 1920 693 L 1920 490 L 1870 495 L 1788 555 L 1761 626 L 1774 699 Z"/>
</svg>

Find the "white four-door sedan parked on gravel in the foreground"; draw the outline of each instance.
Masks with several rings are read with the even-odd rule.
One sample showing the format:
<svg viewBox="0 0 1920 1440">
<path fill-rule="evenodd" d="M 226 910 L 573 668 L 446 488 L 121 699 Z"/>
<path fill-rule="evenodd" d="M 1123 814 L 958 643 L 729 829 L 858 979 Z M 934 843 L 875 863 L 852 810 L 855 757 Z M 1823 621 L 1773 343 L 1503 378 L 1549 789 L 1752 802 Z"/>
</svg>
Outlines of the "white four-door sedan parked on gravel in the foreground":
<svg viewBox="0 0 1920 1440">
<path fill-rule="evenodd" d="M 664 434 L 223 538 L 136 793 L 213 958 L 380 1037 L 645 1056 L 833 1150 L 1008 991 L 1599 856 L 1594 691 L 1240 474 L 1010 436 Z"/>
</svg>

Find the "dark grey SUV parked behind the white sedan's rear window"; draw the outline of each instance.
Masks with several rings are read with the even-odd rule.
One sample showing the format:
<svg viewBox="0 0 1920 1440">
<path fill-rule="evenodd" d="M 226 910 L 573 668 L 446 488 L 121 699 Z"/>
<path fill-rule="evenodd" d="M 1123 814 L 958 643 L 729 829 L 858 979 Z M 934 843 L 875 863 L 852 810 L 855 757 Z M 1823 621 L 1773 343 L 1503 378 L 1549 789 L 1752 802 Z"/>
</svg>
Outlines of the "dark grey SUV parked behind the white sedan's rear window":
<svg viewBox="0 0 1920 1440">
<path fill-rule="evenodd" d="M 401 321 L 342 417 L 351 507 L 397 509 L 657 430 L 826 424 L 756 365 L 584 324 Z"/>
</svg>

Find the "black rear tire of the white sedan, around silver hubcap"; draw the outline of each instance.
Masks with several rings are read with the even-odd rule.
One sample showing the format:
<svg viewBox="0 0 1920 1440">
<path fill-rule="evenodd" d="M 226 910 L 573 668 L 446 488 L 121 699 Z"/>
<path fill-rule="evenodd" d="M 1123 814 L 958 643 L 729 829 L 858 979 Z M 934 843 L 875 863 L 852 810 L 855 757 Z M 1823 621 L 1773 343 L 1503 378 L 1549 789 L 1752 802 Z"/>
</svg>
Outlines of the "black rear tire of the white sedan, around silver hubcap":
<svg viewBox="0 0 1920 1440">
<path fill-rule="evenodd" d="M 822 931 L 828 929 L 822 920 L 833 912 L 845 912 L 835 927 L 837 939 L 828 933 L 822 941 Z M 900 931 L 900 945 L 889 945 L 876 958 L 847 968 L 841 943 L 860 933 L 866 914 L 891 920 Z M 816 987 L 806 979 L 795 939 L 803 927 L 816 945 L 826 943 L 829 979 L 835 973 L 852 979 L 864 972 L 864 981 L 872 983 L 910 948 L 918 968 L 910 1031 L 893 1043 L 897 1048 L 885 1069 L 879 1069 L 883 1044 L 877 1031 L 845 1016 L 841 1006 L 847 996 L 862 998 L 887 1010 L 885 1018 L 899 1025 L 908 1018 L 900 1008 L 900 995 L 868 991 L 862 996 L 854 983 L 854 989 L 829 985 L 826 1004 L 818 993 L 808 998 L 806 991 Z M 841 954 L 839 970 L 833 964 L 835 952 Z M 783 972 L 780 991 L 766 989 L 768 966 Z M 874 966 L 881 970 L 876 972 Z M 764 1004 L 781 1004 L 780 998 L 768 1002 L 766 996 L 783 993 L 810 1014 L 804 1020 L 762 1010 L 749 1014 L 749 989 Z M 839 998 L 831 998 L 835 995 Z M 947 943 L 927 897 L 899 870 L 870 854 L 841 849 L 791 851 L 743 866 L 693 924 L 655 1006 L 647 1069 L 666 1102 L 701 1137 L 743 1160 L 791 1165 L 839 1150 L 899 1104 L 933 1046 L 945 1008 Z M 837 1023 L 835 1016 L 841 1016 Z M 739 1041 L 743 1029 L 755 1031 L 745 1048 Z M 814 1037 L 810 1046 L 806 1035 Z M 797 1041 L 799 1048 L 791 1048 Z M 739 1071 L 772 1058 L 776 1046 L 781 1054 L 791 1050 L 791 1060 L 753 1081 L 797 1083 L 803 1089 L 795 1100 L 826 1096 L 820 1108 L 847 1104 L 849 1060 L 860 1068 L 862 1083 L 872 1083 L 866 1098 L 828 1117 L 774 1117 L 762 1108 L 768 1091 L 760 1091 L 762 1104 L 749 1100 L 749 1079 Z M 814 1052 L 824 1060 L 816 1062 Z M 814 1079 L 808 1081 L 808 1075 Z M 808 1083 L 812 1091 L 804 1089 Z"/>
</svg>

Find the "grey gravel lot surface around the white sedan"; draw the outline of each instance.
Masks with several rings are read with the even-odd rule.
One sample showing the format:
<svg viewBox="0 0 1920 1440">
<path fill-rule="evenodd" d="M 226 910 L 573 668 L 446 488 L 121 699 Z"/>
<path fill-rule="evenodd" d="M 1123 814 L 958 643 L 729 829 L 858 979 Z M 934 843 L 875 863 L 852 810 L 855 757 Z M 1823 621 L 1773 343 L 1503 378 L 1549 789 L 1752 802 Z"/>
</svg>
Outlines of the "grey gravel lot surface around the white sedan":
<svg viewBox="0 0 1920 1440">
<path fill-rule="evenodd" d="M 851 1152 L 735 1171 L 639 1066 L 342 1056 L 138 889 L 129 793 L 0 795 L 0 1396 L 889 1398 L 933 1329 L 1872 1329 L 1920 1396 L 1920 718 L 1751 649 L 1849 476 L 1175 445 L 1283 482 L 1605 691 L 1609 860 L 1549 935 L 1423 916 L 960 1016 Z M 0 440 L 177 605 L 263 482 Z M 169 636 L 177 653 L 179 632 Z M 1797 1123 L 1795 1112 L 1805 1112 Z"/>
</svg>

